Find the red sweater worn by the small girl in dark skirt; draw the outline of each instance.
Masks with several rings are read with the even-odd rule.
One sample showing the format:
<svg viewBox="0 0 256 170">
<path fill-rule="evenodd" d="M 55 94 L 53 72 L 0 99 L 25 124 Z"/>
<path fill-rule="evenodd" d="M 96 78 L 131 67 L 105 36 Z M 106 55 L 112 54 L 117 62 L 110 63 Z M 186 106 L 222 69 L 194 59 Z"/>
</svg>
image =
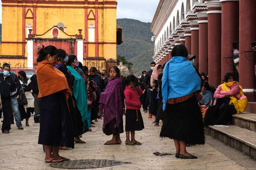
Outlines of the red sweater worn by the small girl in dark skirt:
<svg viewBox="0 0 256 170">
<path fill-rule="evenodd" d="M 125 86 L 124 95 L 125 95 L 126 109 L 134 109 L 134 110 L 141 109 L 141 100 L 139 96 L 141 96 L 142 94 L 143 92 L 141 88 L 134 91 L 132 88 Z"/>
</svg>

